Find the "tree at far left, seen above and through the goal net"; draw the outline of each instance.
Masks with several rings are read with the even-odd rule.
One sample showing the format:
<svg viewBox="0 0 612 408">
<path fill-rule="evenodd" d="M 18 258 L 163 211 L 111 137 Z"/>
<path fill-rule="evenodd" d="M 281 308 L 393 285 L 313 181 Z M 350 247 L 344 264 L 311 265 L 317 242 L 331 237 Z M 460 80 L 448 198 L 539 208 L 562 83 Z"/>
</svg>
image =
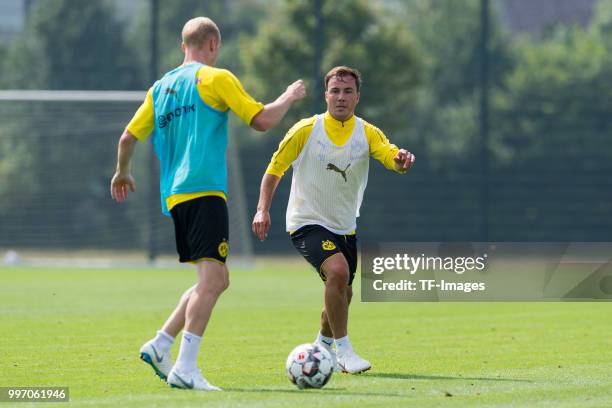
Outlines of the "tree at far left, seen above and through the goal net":
<svg viewBox="0 0 612 408">
<path fill-rule="evenodd" d="M 34 3 L 30 10 L 25 30 L 3 64 L 5 87 L 129 89 L 137 83 L 137 67 L 110 3 L 48 0 Z M 0 188 L 3 222 L 22 220 L 19 231 L 52 226 L 55 239 L 75 244 L 86 244 L 92 236 L 79 223 L 81 219 L 97 219 L 98 233 L 106 231 L 109 213 L 99 198 L 106 198 L 118 128 L 125 118 L 120 109 L 109 113 L 107 107 L 100 112 L 95 106 L 4 104 L 0 179 L 8 183 Z M 111 134 L 103 114 L 111 115 L 111 121 L 121 118 L 116 127 L 110 127 Z M 7 239 L 18 241 L 24 236 L 7 233 Z"/>
</svg>

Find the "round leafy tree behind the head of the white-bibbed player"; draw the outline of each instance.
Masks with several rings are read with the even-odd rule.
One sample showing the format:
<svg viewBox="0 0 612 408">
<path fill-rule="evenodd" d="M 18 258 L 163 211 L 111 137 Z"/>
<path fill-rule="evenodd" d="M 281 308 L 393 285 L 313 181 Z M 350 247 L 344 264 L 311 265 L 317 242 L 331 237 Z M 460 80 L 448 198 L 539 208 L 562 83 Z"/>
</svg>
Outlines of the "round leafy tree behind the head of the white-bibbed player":
<svg viewBox="0 0 612 408">
<path fill-rule="evenodd" d="M 358 111 L 385 131 L 402 137 L 421 81 L 421 57 L 410 31 L 383 9 L 365 0 L 323 1 L 323 58 L 319 75 L 336 65 L 349 65 L 363 74 Z M 253 38 L 241 44 L 245 83 L 258 97 L 276 97 L 290 81 L 303 78 L 309 96 L 287 115 L 287 129 L 300 117 L 311 116 L 313 102 L 323 101 L 314 89 L 314 1 L 283 1 L 269 10 Z"/>
</svg>

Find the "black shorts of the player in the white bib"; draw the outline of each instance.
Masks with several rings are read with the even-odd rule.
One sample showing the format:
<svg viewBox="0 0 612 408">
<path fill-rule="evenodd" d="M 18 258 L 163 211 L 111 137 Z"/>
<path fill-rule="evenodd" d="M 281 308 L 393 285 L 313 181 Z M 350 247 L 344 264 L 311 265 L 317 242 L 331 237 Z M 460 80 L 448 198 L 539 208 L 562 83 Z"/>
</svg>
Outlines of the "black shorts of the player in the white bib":
<svg viewBox="0 0 612 408">
<path fill-rule="evenodd" d="M 349 265 L 349 286 L 357 271 L 357 235 L 338 235 L 320 225 L 306 225 L 291 234 L 293 246 L 325 281 L 321 266 L 327 258 L 341 253 Z"/>
</svg>

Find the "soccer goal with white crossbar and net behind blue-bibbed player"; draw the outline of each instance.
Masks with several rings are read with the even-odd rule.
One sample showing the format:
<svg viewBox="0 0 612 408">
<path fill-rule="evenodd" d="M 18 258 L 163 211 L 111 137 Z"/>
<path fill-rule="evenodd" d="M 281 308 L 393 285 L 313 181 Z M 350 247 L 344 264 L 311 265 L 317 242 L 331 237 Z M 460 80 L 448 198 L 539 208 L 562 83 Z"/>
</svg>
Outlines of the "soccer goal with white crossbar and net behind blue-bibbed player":
<svg viewBox="0 0 612 408">
<path fill-rule="evenodd" d="M 136 192 L 121 205 L 110 197 L 118 138 L 145 95 L 0 91 L 0 250 L 175 256 L 172 221 L 160 209 L 159 171 L 150 166 L 157 161 L 151 161 L 150 142 L 134 154 Z M 231 136 L 228 157 L 229 259 L 250 263 L 248 206 Z"/>
</svg>

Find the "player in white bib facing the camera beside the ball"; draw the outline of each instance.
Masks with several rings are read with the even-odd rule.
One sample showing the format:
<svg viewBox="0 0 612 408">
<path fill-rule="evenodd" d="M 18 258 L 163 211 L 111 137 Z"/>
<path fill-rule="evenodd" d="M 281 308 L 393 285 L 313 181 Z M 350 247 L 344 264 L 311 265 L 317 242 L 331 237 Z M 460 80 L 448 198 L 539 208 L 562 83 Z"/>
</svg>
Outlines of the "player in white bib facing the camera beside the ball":
<svg viewBox="0 0 612 408">
<path fill-rule="evenodd" d="M 325 282 L 325 305 L 316 344 L 337 356 L 338 369 L 371 368 L 351 346 L 347 332 L 351 284 L 357 269 L 356 218 L 368 181 L 370 157 L 387 169 L 406 173 L 414 155 L 391 144 L 380 129 L 355 117 L 361 75 L 341 66 L 325 76 L 327 112 L 293 126 L 261 182 L 253 232 L 264 240 L 270 204 L 280 178 L 293 166 L 287 231 L 295 248 Z M 335 343 L 336 351 L 332 350 Z"/>
</svg>

